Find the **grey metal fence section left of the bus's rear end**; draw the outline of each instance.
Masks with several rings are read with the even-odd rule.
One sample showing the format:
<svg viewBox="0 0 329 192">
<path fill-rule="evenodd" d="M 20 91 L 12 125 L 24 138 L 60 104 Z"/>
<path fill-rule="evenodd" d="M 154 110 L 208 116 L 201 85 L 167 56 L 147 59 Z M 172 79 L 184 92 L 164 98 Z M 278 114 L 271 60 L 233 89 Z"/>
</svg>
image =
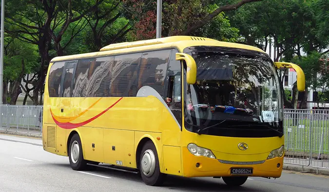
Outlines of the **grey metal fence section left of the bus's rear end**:
<svg viewBox="0 0 329 192">
<path fill-rule="evenodd" d="M 0 129 L 41 135 L 42 106 L 0 105 Z"/>
</svg>

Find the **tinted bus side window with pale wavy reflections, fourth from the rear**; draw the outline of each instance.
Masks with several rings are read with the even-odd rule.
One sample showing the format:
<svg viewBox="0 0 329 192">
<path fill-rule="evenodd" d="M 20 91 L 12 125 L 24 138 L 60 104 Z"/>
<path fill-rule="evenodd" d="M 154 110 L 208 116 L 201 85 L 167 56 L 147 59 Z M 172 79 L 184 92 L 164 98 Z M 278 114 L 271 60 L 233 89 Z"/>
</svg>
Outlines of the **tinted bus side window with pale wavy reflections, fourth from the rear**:
<svg viewBox="0 0 329 192">
<path fill-rule="evenodd" d="M 93 58 L 87 74 L 85 97 L 109 96 L 109 84 L 114 57 Z"/>
</svg>

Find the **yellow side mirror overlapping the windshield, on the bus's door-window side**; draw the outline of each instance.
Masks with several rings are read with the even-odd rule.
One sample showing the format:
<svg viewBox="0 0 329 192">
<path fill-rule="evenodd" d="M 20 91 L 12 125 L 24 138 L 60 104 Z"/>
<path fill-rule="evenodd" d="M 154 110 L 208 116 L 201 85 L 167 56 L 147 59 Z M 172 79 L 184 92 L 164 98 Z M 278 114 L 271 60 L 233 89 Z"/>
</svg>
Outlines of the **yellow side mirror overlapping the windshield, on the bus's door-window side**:
<svg viewBox="0 0 329 192">
<path fill-rule="evenodd" d="M 182 61 L 184 60 L 186 63 L 186 81 L 188 84 L 195 84 L 196 81 L 196 64 L 194 58 L 186 53 L 176 53 L 176 60 Z"/>
</svg>

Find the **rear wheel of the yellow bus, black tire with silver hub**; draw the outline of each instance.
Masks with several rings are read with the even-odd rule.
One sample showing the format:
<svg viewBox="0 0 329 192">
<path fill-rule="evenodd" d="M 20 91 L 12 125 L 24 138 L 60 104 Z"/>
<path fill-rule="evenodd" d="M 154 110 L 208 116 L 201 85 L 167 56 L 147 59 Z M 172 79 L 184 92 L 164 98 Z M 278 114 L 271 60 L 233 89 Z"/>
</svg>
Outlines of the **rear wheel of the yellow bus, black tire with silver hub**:
<svg viewBox="0 0 329 192">
<path fill-rule="evenodd" d="M 86 169 L 87 161 L 83 158 L 82 144 L 78 134 L 73 135 L 70 140 L 68 156 L 73 170 L 81 171 Z"/>
</svg>

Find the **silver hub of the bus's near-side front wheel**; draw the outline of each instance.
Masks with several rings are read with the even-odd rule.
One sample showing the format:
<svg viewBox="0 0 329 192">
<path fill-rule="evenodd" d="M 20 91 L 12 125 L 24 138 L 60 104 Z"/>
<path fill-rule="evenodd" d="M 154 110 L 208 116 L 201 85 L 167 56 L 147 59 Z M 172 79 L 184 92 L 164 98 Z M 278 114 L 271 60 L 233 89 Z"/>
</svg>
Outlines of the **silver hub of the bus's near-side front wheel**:
<svg viewBox="0 0 329 192">
<path fill-rule="evenodd" d="M 142 172 L 145 176 L 152 176 L 155 172 L 155 155 L 152 150 L 148 149 L 143 153 L 141 161 Z"/>
</svg>

